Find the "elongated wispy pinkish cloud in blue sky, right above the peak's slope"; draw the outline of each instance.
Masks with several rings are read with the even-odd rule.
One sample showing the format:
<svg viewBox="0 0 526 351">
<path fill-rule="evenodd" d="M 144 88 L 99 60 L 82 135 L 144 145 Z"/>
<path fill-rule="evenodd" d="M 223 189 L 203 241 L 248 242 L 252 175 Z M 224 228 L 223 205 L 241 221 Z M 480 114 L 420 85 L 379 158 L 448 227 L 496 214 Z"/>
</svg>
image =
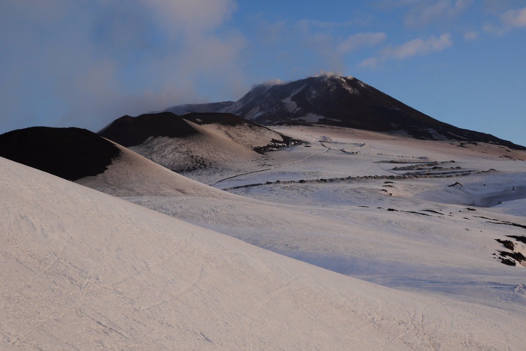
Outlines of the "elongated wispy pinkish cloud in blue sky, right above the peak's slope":
<svg viewBox="0 0 526 351">
<path fill-rule="evenodd" d="M 427 39 L 413 39 L 398 46 L 386 46 L 381 49 L 380 55 L 370 57 L 362 61 L 361 67 L 376 67 L 378 64 L 388 59 L 406 59 L 413 56 L 427 55 L 432 52 L 439 52 L 453 45 L 451 34 L 444 33 L 439 37 L 431 36 Z"/>
</svg>

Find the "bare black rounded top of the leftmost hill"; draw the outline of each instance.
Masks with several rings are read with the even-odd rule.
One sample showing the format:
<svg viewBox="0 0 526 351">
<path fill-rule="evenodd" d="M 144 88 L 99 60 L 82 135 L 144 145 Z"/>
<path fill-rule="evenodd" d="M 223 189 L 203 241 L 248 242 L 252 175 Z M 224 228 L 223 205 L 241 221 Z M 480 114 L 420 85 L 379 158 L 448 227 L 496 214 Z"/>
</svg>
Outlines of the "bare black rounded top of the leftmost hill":
<svg viewBox="0 0 526 351">
<path fill-rule="evenodd" d="M 103 173 L 119 153 L 80 128 L 31 127 L 0 135 L 0 156 L 68 180 Z"/>
</svg>

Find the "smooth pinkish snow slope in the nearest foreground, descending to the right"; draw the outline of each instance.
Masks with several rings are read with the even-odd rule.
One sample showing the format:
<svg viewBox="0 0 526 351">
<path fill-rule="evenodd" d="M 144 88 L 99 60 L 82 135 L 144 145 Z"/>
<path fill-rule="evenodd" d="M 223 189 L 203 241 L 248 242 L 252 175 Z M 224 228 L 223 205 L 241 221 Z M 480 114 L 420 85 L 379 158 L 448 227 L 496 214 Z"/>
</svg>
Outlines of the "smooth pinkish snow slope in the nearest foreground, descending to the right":
<svg viewBox="0 0 526 351">
<path fill-rule="evenodd" d="M 520 309 L 367 283 L 3 158 L 0 188 L 1 348 L 524 345 Z"/>
</svg>

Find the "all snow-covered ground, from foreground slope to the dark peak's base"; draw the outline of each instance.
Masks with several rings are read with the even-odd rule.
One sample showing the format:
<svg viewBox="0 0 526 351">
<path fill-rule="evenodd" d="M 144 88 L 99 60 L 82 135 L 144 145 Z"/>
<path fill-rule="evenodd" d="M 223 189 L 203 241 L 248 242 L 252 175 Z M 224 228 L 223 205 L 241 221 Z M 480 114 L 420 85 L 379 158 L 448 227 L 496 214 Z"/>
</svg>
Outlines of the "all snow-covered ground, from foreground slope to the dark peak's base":
<svg viewBox="0 0 526 351">
<path fill-rule="evenodd" d="M 526 254 L 526 154 L 278 131 L 311 144 L 198 174 L 237 195 L 131 152 L 78 181 L 122 199 L 0 159 L 3 347 L 523 349 L 526 267 L 495 239 Z"/>
</svg>

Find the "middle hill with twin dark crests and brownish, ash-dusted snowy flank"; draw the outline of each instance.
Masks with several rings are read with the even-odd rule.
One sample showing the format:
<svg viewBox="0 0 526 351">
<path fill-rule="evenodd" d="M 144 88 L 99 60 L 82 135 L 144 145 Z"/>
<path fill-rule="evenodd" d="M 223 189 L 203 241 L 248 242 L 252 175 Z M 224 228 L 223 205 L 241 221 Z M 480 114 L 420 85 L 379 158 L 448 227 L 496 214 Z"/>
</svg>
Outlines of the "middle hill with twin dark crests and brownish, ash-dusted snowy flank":
<svg viewBox="0 0 526 351">
<path fill-rule="evenodd" d="M 257 123 L 225 113 L 170 112 L 124 116 L 99 134 L 172 171 L 227 174 L 252 171 L 262 155 L 302 142 Z"/>
</svg>

